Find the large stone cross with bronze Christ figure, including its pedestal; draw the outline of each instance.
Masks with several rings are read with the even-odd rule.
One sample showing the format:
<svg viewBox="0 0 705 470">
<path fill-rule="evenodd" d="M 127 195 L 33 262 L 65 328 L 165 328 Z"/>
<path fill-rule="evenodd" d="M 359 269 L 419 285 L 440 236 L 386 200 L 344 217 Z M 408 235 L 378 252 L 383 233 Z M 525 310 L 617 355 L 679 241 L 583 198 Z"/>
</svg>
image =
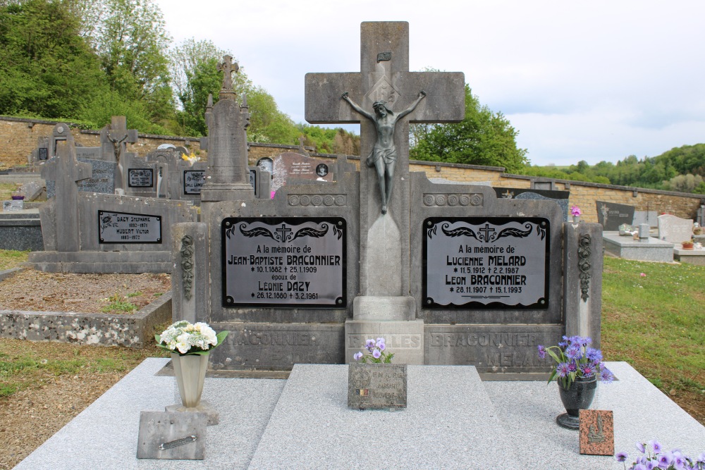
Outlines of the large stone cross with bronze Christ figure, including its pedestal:
<svg viewBox="0 0 705 470">
<path fill-rule="evenodd" d="M 362 23 L 360 36 L 359 73 L 307 73 L 305 80 L 309 123 L 361 124 L 360 296 L 345 326 L 346 351 L 362 346 L 360 335 L 412 336 L 420 347 L 397 357 L 423 364 L 423 322 L 410 297 L 409 123 L 462 120 L 465 77 L 410 72 L 406 22 Z"/>
</svg>

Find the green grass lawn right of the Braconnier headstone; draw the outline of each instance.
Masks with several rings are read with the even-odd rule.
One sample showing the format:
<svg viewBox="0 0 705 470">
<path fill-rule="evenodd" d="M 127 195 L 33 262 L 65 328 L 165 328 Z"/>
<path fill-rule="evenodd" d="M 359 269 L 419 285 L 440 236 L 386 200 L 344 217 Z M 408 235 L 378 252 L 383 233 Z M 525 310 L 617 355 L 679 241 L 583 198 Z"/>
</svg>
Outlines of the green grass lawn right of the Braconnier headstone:
<svg viewBox="0 0 705 470">
<path fill-rule="evenodd" d="M 602 350 L 705 407 L 705 266 L 605 258 Z M 698 399 L 699 397 L 699 399 Z"/>
</svg>

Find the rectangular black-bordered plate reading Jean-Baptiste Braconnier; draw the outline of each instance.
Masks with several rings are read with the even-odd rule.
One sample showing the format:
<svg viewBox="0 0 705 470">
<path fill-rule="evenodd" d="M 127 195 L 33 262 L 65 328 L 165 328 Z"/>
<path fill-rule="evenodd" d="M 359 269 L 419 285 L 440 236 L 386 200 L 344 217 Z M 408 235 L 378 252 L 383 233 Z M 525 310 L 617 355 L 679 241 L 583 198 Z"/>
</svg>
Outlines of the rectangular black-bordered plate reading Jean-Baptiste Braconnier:
<svg viewBox="0 0 705 470">
<path fill-rule="evenodd" d="M 344 308 L 341 217 L 224 218 L 224 307 Z"/>
</svg>

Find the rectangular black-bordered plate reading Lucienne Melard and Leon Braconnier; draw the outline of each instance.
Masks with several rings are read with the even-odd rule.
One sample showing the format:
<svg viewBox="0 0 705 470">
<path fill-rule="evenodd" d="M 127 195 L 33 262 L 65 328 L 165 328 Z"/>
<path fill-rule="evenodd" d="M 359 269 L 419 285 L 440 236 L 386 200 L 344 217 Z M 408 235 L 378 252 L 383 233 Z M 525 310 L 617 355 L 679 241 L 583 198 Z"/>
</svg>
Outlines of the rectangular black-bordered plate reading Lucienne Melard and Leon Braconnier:
<svg viewBox="0 0 705 470">
<path fill-rule="evenodd" d="M 424 309 L 548 308 L 548 219 L 431 217 L 423 230 Z"/>
</svg>

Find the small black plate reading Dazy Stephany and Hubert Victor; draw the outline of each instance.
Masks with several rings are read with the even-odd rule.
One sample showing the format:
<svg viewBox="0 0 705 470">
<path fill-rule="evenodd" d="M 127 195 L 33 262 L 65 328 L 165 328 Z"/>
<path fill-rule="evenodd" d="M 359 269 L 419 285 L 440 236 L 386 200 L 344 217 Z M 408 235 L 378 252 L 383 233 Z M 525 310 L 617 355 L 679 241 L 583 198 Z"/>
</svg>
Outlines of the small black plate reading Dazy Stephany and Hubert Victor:
<svg viewBox="0 0 705 470">
<path fill-rule="evenodd" d="M 98 211 L 100 243 L 161 243 L 161 217 Z"/>
</svg>

